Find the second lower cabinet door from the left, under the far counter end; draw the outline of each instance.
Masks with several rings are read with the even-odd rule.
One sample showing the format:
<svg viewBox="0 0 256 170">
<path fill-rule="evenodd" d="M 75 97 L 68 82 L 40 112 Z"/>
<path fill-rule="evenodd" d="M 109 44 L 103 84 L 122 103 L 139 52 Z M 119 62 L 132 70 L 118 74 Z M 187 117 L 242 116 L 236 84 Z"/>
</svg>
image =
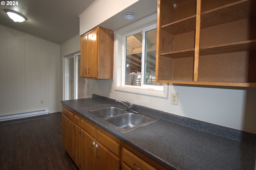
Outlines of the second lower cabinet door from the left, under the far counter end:
<svg viewBox="0 0 256 170">
<path fill-rule="evenodd" d="M 67 152 L 74 160 L 74 123 L 70 119 L 67 120 Z"/>
</svg>

